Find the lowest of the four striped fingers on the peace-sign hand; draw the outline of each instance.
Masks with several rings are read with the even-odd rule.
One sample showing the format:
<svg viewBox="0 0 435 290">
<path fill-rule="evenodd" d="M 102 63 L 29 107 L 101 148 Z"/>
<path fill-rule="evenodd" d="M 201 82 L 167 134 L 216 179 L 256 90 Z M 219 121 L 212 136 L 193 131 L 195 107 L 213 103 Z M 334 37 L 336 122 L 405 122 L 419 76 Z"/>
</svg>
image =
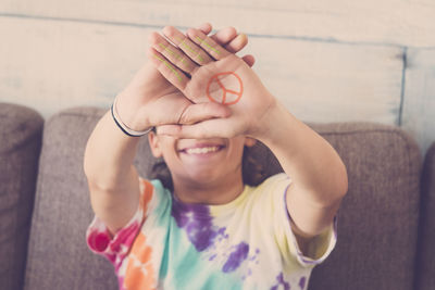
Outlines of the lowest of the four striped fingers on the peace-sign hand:
<svg viewBox="0 0 435 290">
<path fill-rule="evenodd" d="M 148 58 L 157 70 L 176 88 L 184 90 L 189 78 L 183 72 L 170 63 L 164 55 L 153 48 L 148 51 Z"/>
</svg>

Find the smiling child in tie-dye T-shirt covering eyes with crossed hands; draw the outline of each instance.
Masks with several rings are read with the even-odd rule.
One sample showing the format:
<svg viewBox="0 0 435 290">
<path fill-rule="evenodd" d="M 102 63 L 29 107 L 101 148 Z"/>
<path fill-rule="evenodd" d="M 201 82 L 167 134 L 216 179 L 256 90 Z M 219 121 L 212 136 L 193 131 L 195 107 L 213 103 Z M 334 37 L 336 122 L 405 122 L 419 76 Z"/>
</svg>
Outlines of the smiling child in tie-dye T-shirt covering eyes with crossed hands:
<svg viewBox="0 0 435 290">
<path fill-rule="evenodd" d="M 246 36 L 210 30 L 151 34 L 149 63 L 92 131 L 88 245 L 114 264 L 120 289 L 307 289 L 336 242 L 346 168 L 262 85 L 253 58 L 234 54 Z M 170 185 L 133 165 L 148 131 Z M 241 166 L 257 140 L 284 169 L 260 185 Z"/>
</svg>

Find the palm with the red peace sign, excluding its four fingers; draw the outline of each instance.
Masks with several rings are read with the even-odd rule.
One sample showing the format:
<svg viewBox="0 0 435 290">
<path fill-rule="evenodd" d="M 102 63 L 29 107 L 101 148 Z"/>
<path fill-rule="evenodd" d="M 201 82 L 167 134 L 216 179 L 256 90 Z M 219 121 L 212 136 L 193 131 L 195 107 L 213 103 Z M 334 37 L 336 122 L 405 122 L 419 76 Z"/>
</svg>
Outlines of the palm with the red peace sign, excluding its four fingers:
<svg viewBox="0 0 435 290">
<path fill-rule="evenodd" d="M 228 105 L 231 117 L 202 122 L 222 137 L 251 135 L 274 102 L 252 68 L 235 54 L 199 67 L 182 91 L 195 103 Z"/>
</svg>

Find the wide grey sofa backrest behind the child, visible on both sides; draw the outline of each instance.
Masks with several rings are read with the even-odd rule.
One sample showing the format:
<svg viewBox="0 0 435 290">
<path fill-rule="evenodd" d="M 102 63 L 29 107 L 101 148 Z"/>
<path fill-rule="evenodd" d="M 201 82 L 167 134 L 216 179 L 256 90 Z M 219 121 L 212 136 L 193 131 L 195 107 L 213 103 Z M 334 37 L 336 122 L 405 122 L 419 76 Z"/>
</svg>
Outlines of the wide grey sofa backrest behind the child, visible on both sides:
<svg viewBox="0 0 435 290">
<path fill-rule="evenodd" d="M 94 216 L 83 155 L 105 110 L 71 109 L 45 127 L 28 248 L 26 290 L 116 289 L 113 268 L 92 254 L 85 231 Z M 310 289 L 411 290 L 420 202 L 420 151 L 402 130 L 369 123 L 312 125 L 343 157 L 349 192 L 338 214 L 338 242 L 314 269 Z M 282 171 L 261 143 L 269 175 Z M 142 138 L 135 164 L 148 177 L 152 157 Z"/>
</svg>

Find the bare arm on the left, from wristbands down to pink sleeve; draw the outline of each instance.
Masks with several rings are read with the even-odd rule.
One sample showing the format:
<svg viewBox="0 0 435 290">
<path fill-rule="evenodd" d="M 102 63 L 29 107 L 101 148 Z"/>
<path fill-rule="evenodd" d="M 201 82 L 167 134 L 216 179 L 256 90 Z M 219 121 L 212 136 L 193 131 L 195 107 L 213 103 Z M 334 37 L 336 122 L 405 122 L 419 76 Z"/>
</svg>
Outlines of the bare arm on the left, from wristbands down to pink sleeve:
<svg viewBox="0 0 435 290">
<path fill-rule="evenodd" d="M 139 181 L 133 165 L 138 141 L 117 128 L 109 111 L 86 146 L 84 171 L 90 202 L 112 234 L 127 224 L 139 204 Z"/>
</svg>

